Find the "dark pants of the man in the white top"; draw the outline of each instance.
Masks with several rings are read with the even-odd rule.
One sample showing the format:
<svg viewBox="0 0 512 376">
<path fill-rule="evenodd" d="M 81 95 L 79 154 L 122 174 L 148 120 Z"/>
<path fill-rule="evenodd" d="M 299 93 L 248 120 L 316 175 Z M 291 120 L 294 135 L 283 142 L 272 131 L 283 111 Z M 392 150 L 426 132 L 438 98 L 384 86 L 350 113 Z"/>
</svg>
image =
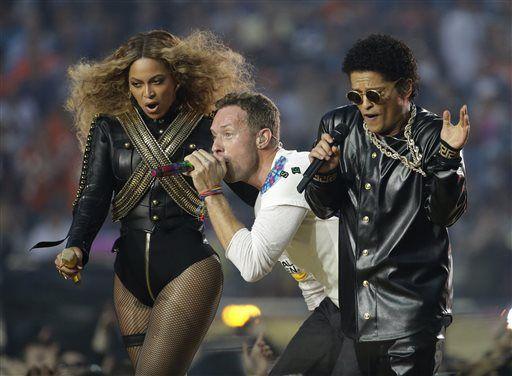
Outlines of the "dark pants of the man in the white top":
<svg viewBox="0 0 512 376">
<path fill-rule="evenodd" d="M 340 310 L 325 298 L 295 333 L 270 376 L 330 375 L 343 338 Z"/>
</svg>

